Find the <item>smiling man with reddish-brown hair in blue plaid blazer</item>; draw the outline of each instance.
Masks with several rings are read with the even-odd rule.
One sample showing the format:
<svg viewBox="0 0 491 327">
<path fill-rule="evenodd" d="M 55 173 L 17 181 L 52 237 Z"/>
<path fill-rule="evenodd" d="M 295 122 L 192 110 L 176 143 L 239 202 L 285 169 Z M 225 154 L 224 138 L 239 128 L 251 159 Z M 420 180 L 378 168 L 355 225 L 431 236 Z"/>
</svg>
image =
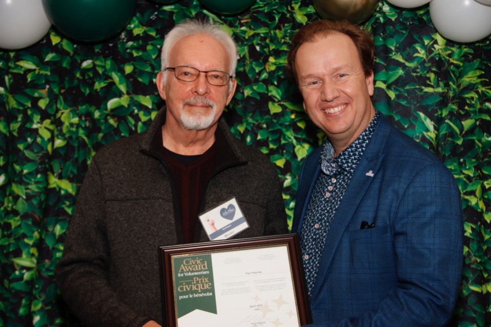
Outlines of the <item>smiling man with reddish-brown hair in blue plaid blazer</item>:
<svg viewBox="0 0 491 327">
<path fill-rule="evenodd" d="M 375 110 L 374 46 L 348 22 L 302 28 L 288 53 L 327 135 L 302 169 L 299 232 L 315 326 L 443 326 L 459 292 L 460 192 L 450 171 Z"/>
</svg>

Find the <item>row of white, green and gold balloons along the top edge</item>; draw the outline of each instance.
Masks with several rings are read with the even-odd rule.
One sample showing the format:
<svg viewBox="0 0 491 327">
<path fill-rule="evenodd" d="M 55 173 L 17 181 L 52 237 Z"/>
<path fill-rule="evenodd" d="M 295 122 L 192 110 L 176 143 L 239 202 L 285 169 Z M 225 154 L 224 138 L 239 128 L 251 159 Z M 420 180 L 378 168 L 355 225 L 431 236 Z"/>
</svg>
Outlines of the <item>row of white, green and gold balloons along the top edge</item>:
<svg viewBox="0 0 491 327">
<path fill-rule="evenodd" d="M 169 5 L 180 0 L 151 0 Z M 237 15 L 257 0 L 199 0 L 218 15 Z M 456 42 L 475 42 L 491 34 L 491 0 L 386 0 L 403 9 L 429 4 L 437 31 Z M 324 19 L 362 24 L 379 0 L 313 0 Z M 42 4 L 42 5 L 41 5 Z M 21 49 L 39 41 L 51 24 L 80 42 L 100 42 L 121 32 L 137 0 L 0 0 L 0 49 Z M 90 17 L 90 18 L 89 18 Z"/>
</svg>

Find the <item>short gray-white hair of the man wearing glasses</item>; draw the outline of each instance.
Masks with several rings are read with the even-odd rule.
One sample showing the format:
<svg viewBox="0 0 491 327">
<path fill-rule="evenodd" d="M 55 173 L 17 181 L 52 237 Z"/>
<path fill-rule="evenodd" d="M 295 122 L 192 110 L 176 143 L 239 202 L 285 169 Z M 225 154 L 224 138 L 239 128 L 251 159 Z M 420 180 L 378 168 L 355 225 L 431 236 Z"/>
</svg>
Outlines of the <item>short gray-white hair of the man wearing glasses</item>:
<svg viewBox="0 0 491 327">
<path fill-rule="evenodd" d="M 230 70 L 227 73 L 229 73 L 230 76 L 233 76 L 235 73 L 235 68 L 237 67 L 237 45 L 235 44 L 234 40 L 218 25 L 195 19 L 186 19 L 180 22 L 165 36 L 161 55 L 162 72 L 164 72 L 165 68 L 167 67 L 167 64 L 169 62 L 170 50 L 174 46 L 175 42 L 185 36 L 196 33 L 208 34 L 217 39 L 221 44 L 225 46 L 225 49 L 227 49 L 230 57 Z"/>
</svg>

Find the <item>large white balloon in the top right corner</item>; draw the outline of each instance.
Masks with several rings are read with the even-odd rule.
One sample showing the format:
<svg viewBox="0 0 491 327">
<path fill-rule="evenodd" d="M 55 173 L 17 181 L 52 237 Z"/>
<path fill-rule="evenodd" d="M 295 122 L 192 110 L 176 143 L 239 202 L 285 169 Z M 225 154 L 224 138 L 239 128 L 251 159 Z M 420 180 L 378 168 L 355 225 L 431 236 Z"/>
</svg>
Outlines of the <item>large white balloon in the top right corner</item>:
<svg viewBox="0 0 491 327">
<path fill-rule="evenodd" d="M 432 0 L 430 17 L 438 33 L 456 42 L 491 34 L 491 7 L 474 0 Z"/>
</svg>

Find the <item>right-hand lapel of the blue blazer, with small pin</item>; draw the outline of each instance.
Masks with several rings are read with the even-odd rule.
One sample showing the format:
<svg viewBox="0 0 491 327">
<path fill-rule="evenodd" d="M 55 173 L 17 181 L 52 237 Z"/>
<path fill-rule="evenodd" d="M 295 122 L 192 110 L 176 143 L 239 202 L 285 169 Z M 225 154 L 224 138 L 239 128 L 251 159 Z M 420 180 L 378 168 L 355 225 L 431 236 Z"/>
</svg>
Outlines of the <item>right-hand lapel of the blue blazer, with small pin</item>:
<svg viewBox="0 0 491 327">
<path fill-rule="evenodd" d="M 317 278 L 312 290 L 311 298 L 317 297 L 321 286 L 326 283 L 324 279 L 327 276 L 328 268 L 334 253 L 336 253 L 341 237 L 353 217 L 354 212 L 358 208 L 360 200 L 365 196 L 368 186 L 373 180 L 373 176 L 377 173 L 378 168 L 381 165 L 383 158 L 382 153 L 388 139 L 390 128 L 391 126 L 387 120 L 381 115 L 378 126 L 370 139 L 370 143 L 365 149 L 358 167 L 356 167 L 353 177 L 349 182 L 348 188 L 344 193 L 343 200 L 339 204 L 336 214 L 332 219 L 326 243 L 322 251 L 322 258 L 317 271 Z"/>
</svg>

